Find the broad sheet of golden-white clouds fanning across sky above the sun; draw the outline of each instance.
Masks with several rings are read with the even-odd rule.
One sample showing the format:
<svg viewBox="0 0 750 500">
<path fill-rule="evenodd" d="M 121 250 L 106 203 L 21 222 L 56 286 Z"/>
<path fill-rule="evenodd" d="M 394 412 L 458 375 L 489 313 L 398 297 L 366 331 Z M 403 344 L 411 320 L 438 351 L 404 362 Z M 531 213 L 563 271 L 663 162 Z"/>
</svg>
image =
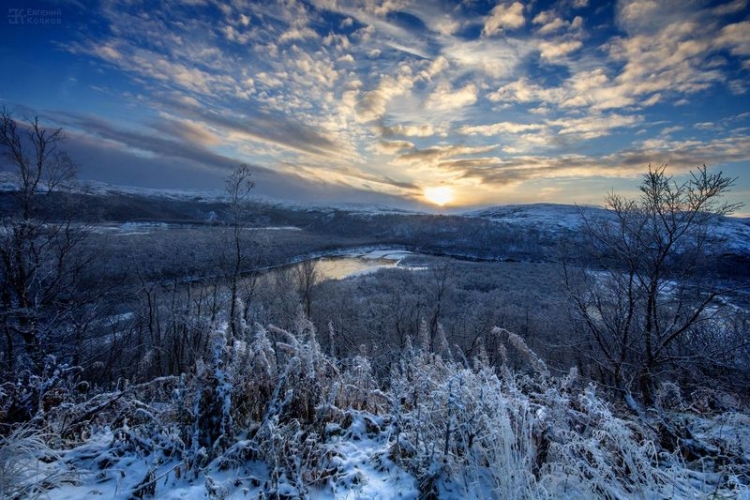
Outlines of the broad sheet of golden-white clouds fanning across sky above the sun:
<svg viewBox="0 0 750 500">
<path fill-rule="evenodd" d="M 106 29 L 61 46 L 102 75 L 126 75 L 94 83 L 129 106 L 129 124 L 68 125 L 123 155 L 182 162 L 196 179 L 241 160 L 410 196 L 432 176 L 630 175 L 649 154 L 682 158 L 677 147 L 707 163 L 719 145 L 728 161 L 747 147 L 711 143 L 728 130 L 743 137 L 747 119 L 723 123 L 717 106 L 701 118 L 715 127 L 694 127 L 687 107 L 674 108 L 698 101 L 703 113 L 719 91 L 744 105 L 746 0 L 609 10 L 503 0 L 486 16 L 476 2 L 211 0 L 148 14 L 125 3 L 92 9 Z"/>
</svg>

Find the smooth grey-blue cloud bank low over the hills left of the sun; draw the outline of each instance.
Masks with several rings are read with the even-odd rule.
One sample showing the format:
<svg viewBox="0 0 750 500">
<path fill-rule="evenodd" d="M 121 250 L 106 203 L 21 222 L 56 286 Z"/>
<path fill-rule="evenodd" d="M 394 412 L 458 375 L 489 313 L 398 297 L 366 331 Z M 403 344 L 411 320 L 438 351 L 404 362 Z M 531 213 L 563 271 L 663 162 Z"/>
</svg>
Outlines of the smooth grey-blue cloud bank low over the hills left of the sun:
<svg viewBox="0 0 750 500">
<path fill-rule="evenodd" d="M 192 132 L 184 123 L 165 119 L 154 127 L 162 134 L 155 134 L 122 130 L 91 117 L 58 114 L 54 118 L 66 127 L 66 151 L 80 159 L 79 174 L 84 179 L 127 186 L 221 190 L 226 176 L 241 162 L 190 143 Z M 297 169 L 299 173 L 253 164 L 250 168 L 256 183 L 254 193 L 306 203 L 338 200 L 414 208 L 416 205 L 404 196 L 416 199 L 419 191 L 412 183 L 387 177 L 363 177 L 367 182 L 360 184 L 379 184 L 378 190 L 372 190 L 355 186 L 356 179 L 345 176 L 333 182 L 302 175 L 309 174 L 304 168 Z M 398 194 L 383 192 L 388 189 Z"/>
</svg>

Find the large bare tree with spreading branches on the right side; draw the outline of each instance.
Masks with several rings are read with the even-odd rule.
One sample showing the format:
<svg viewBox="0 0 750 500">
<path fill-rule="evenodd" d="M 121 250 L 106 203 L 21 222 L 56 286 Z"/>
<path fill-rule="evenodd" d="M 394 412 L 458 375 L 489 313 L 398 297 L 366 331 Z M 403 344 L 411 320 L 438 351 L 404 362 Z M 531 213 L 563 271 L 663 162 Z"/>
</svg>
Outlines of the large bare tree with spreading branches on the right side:
<svg viewBox="0 0 750 500">
<path fill-rule="evenodd" d="M 608 217 L 584 214 L 595 269 L 567 270 L 576 318 L 593 340 L 593 359 L 631 404 L 634 387 L 647 406 L 658 377 L 684 355 L 680 341 L 715 314 L 709 306 L 720 290 L 715 280 L 700 278 L 708 278 L 715 219 L 737 208 L 721 201 L 735 179 L 703 166 L 678 184 L 665 170 L 649 166 L 638 200 L 608 195 Z"/>
</svg>

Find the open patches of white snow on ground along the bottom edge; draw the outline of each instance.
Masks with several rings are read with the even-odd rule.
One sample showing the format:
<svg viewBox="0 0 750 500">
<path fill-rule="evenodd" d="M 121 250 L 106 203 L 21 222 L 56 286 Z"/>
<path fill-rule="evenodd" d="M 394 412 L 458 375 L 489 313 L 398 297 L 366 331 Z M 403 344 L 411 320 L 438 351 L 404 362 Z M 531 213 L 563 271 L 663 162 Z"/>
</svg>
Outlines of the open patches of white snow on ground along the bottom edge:
<svg viewBox="0 0 750 500">
<path fill-rule="evenodd" d="M 324 486 L 311 488 L 308 498 L 324 499 L 392 499 L 417 498 L 416 479 L 387 458 L 388 440 L 385 434 L 366 431 L 365 414 L 356 414 L 348 432 L 334 437 L 326 448 L 335 458 L 337 478 Z M 149 472 L 156 479 L 155 498 L 167 500 L 205 499 L 208 485 L 214 497 L 227 500 L 258 498 L 271 481 L 271 471 L 260 461 L 248 461 L 239 466 L 221 470 L 211 463 L 198 477 L 185 473 L 178 460 L 160 461 L 152 456 L 127 454 L 117 457 L 111 453 L 116 440 L 109 429 L 102 429 L 88 443 L 70 450 L 65 460 L 85 472 L 79 473 L 77 484 L 63 484 L 49 492 L 49 498 L 80 500 L 102 498 L 128 500 L 132 492 Z M 114 461 L 100 470 L 102 460 Z M 288 484 L 279 486 L 280 494 L 295 496 L 296 489 Z"/>
</svg>

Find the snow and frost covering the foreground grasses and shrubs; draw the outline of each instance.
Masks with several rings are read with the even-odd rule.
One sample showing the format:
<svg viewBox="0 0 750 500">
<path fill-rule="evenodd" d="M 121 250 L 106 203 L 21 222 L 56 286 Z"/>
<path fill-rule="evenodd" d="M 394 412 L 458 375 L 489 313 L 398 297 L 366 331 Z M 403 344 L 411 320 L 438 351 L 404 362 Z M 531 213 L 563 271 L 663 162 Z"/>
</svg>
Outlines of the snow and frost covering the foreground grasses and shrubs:
<svg viewBox="0 0 750 500">
<path fill-rule="evenodd" d="M 215 340 L 216 346 L 222 344 L 219 337 Z M 297 360 L 294 366 L 302 368 L 306 363 L 300 365 L 298 356 L 313 348 L 314 342 L 290 347 L 296 354 L 288 360 Z M 528 351 L 524 346 L 522 350 Z M 643 416 L 638 420 L 618 417 L 593 385 L 573 389 L 572 374 L 570 380 L 559 383 L 542 374 L 536 379 L 542 384 L 540 392 L 532 396 L 517 385 L 524 383 L 524 377 L 506 372 L 501 381 L 488 367 L 471 370 L 442 361 L 434 353 L 410 352 L 406 354 L 412 356 L 409 364 L 402 363 L 399 371 L 392 373 L 391 392 L 365 389 L 357 396 L 360 401 L 384 396 L 388 403 L 378 414 L 334 407 L 328 413 L 325 408 L 329 403 L 323 403 L 318 406 L 323 426 L 305 426 L 296 420 L 279 423 L 276 418 L 281 414 L 276 414 L 270 420 L 264 418 L 260 430 L 249 437 L 246 426 L 238 425 L 233 444 L 203 466 L 186 465 L 188 450 L 179 458 L 179 453 L 170 451 L 172 444 L 181 441 L 179 432 L 168 430 L 176 421 L 159 424 L 160 418 L 174 417 L 174 409 L 168 407 L 160 416 L 154 407 L 154 415 L 149 413 L 140 423 L 136 414 L 128 414 L 132 424 L 126 420 L 117 429 L 93 426 L 86 439 L 64 451 L 48 453 L 33 434 L 27 436 L 31 446 L 23 439 L 11 446 L 20 450 L 16 461 L 25 462 L 24 470 L 36 471 L 38 484 L 47 489 L 43 495 L 62 500 L 244 499 L 273 498 L 274 494 L 312 500 L 415 499 L 429 494 L 424 491 L 426 482 L 445 500 L 678 499 L 711 494 L 750 498 L 742 479 L 744 465 L 722 469 L 718 462 L 726 457 L 750 460 L 746 452 L 750 417 L 744 413 L 698 410 L 670 417 L 684 422 L 692 432 L 692 441 L 709 452 L 718 451 L 716 461 L 701 457 L 684 463 L 677 453 L 657 453 L 649 431 L 656 428 L 655 423 L 643 425 Z M 324 355 L 318 352 L 316 356 Z M 330 360 L 310 361 L 305 373 L 297 373 L 297 382 L 287 378 L 294 378 L 293 374 L 285 372 L 279 383 L 288 391 L 302 388 L 294 384 L 320 384 L 325 391 L 330 373 L 319 368 Z M 364 365 L 360 368 L 356 374 L 350 372 L 355 376 L 352 383 L 367 378 Z M 219 372 L 221 377 L 232 373 L 230 367 Z M 467 436 L 473 436 L 473 444 Z M 542 442 L 548 442 L 549 455 L 534 473 Z M 8 454 L 7 449 L 0 447 L 0 457 L 3 452 Z M 265 449 L 266 460 L 280 458 L 281 468 L 259 460 L 261 449 Z M 276 453 L 279 455 L 274 458 Z M 52 455 L 53 460 L 45 458 Z M 6 456 L 4 464 L 13 458 Z"/>
</svg>

